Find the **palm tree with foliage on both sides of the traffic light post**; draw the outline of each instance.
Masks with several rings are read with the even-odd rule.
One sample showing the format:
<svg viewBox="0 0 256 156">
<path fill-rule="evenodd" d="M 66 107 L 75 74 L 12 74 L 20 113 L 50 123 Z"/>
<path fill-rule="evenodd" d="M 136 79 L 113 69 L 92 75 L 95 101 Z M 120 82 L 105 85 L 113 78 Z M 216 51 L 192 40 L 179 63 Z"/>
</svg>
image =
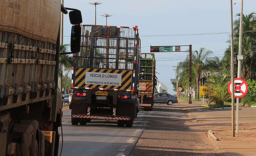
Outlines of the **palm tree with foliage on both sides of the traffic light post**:
<svg viewBox="0 0 256 156">
<path fill-rule="evenodd" d="M 220 60 L 218 57 L 210 57 L 213 54 L 211 50 L 207 50 L 205 48 L 200 48 L 199 51 L 192 51 L 192 81 L 194 82 L 195 89 L 195 99 L 199 99 L 199 79 L 200 74 L 203 70 L 220 70 Z M 187 55 L 187 59 L 183 62 L 178 63 L 178 69 L 181 72 L 180 78 L 184 79 L 181 84 L 185 87 L 188 86 L 188 78 L 189 78 L 189 55 Z M 179 81 L 180 83 L 180 81 Z M 186 85 L 184 85 L 186 83 Z"/>
</svg>

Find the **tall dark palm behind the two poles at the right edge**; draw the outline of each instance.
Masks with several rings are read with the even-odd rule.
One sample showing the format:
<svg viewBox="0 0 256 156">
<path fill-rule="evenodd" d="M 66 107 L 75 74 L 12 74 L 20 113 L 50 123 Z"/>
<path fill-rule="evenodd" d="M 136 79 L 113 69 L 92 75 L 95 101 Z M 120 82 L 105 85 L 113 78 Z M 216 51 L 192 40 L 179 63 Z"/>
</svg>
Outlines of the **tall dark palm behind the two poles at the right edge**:
<svg viewBox="0 0 256 156">
<path fill-rule="evenodd" d="M 240 16 L 237 14 L 236 16 Z M 239 48 L 239 27 L 240 18 L 234 21 L 234 56 L 238 55 Z M 256 73 L 256 13 L 252 12 L 249 15 L 243 15 L 243 38 L 242 38 L 242 55 L 244 59 L 242 61 L 242 74 L 241 78 L 248 80 Z M 227 41 L 230 43 L 230 40 Z M 225 67 L 226 73 L 230 72 L 230 46 L 226 49 L 224 57 L 222 59 L 222 64 Z M 237 64 L 235 65 L 235 75 L 237 75 Z"/>
</svg>

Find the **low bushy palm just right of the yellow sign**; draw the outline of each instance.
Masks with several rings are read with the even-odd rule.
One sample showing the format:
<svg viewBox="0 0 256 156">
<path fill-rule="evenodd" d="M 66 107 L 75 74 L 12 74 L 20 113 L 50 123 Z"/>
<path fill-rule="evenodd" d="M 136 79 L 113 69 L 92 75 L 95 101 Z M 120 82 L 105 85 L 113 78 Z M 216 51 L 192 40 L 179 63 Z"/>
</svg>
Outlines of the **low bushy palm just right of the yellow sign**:
<svg viewBox="0 0 256 156">
<path fill-rule="evenodd" d="M 231 98 L 228 92 L 229 81 L 230 77 L 227 74 L 223 76 L 223 73 L 211 75 L 211 77 L 207 78 L 205 92 L 209 99 L 208 104 L 214 102 L 222 106 L 224 102 Z"/>
</svg>

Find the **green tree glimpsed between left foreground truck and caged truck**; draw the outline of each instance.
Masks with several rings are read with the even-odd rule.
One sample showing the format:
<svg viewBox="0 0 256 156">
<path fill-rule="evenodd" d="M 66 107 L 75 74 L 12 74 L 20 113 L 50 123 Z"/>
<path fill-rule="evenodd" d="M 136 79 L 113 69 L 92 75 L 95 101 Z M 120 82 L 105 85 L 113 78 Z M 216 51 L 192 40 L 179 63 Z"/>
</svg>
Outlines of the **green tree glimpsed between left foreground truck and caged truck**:
<svg viewBox="0 0 256 156">
<path fill-rule="evenodd" d="M 60 53 L 65 53 L 69 52 L 68 48 L 70 47 L 70 44 L 61 44 L 60 45 Z M 60 55 L 59 57 L 59 63 L 64 67 L 65 71 L 71 71 L 72 69 L 72 63 L 73 63 L 73 57 L 65 54 L 65 55 Z M 68 75 L 68 73 L 66 75 Z M 62 86 L 62 77 L 63 77 L 63 72 L 59 70 L 59 76 L 61 78 L 61 86 Z M 71 85 L 70 85 L 71 86 Z M 60 88 L 62 89 L 62 88 Z"/>
</svg>

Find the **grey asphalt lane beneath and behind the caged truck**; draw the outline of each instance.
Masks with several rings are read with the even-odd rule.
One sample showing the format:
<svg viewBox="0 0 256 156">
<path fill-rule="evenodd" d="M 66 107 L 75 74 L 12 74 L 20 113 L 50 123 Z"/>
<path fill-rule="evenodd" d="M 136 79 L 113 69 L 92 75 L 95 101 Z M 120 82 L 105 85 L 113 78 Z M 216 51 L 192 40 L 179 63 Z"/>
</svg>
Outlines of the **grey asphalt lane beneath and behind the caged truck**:
<svg viewBox="0 0 256 156">
<path fill-rule="evenodd" d="M 72 125 L 70 109 L 65 109 L 62 117 L 62 156 L 121 156 L 130 155 L 139 137 L 148 124 L 151 112 L 140 109 L 133 127 L 118 127 L 116 120 L 91 120 L 86 125 Z M 61 129 L 59 128 L 61 134 Z M 62 145 L 60 135 L 59 153 Z"/>
</svg>

